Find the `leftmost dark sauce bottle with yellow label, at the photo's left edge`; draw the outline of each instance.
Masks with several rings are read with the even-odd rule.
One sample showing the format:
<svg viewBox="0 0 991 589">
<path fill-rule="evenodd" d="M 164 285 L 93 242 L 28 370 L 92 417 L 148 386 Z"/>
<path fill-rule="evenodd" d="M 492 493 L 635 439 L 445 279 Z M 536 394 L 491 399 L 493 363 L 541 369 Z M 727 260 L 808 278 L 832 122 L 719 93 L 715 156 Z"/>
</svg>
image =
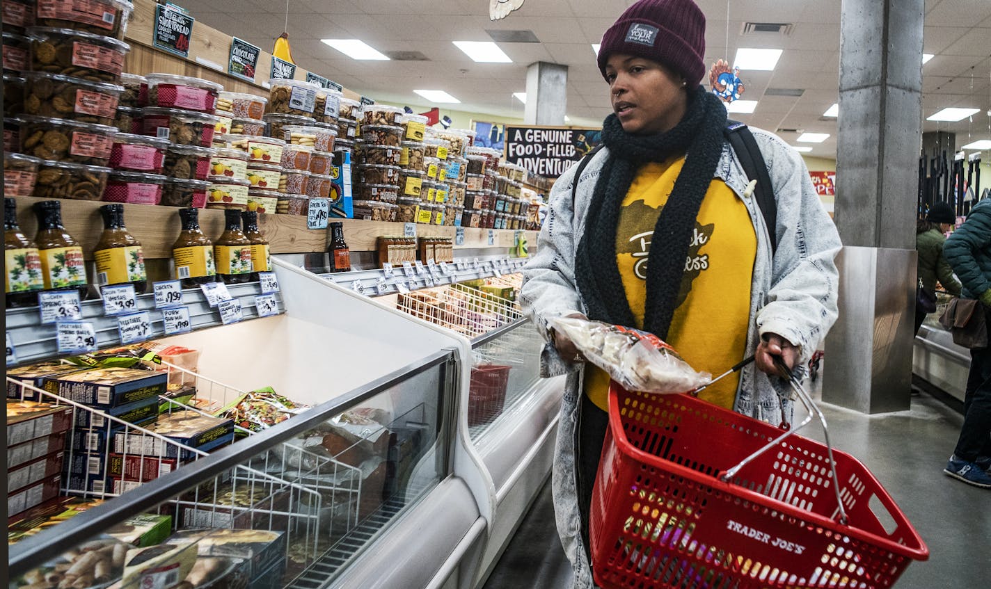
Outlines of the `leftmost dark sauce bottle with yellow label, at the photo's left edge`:
<svg viewBox="0 0 991 589">
<path fill-rule="evenodd" d="M 42 279 L 42 255 L 38 245 L 21 233 L 17 224 L 17 204 L 3 199 L 4 292 L 7 308 L 33 307 L 38 291 L 45 287 Z"/>
</svg>

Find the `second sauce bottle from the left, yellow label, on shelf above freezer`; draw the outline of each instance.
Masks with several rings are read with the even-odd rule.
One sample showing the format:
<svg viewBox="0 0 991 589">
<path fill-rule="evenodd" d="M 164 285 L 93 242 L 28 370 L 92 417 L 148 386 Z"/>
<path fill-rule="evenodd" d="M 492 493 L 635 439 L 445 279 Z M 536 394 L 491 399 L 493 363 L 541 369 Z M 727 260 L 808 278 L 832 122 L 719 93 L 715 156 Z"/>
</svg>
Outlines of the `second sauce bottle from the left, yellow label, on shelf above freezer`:
<svg viewBox="0 0 991 589">
<path fill-rule="evenodd" d="M 61 223 L 61 203 L 45 200 L 35 203 L 38 234 L 35 244 L 42 258 L 45 290 L 77 290 L 86 296 L 86 267 L 82 247 L 68 235 Z"/>
</svg>

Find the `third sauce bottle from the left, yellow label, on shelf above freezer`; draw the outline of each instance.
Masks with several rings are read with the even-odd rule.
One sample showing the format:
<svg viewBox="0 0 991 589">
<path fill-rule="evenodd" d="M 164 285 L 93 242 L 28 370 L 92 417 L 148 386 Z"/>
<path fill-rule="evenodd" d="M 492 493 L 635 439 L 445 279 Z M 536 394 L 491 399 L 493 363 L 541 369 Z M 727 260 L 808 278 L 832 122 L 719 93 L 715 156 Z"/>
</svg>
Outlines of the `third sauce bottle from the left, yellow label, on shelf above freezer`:
<svg viewBox="0 0 991 589">
<path fill-rule="evenodd" d="M 100 286 L 133 284 L 135 292 L 145 292 L 148 289 L 145 254 L 141 242 L 124 227 L 124 205 L 103 205 L 100 214 L 103 233 L 93 250 L 96 283 Z"/>
</svg>

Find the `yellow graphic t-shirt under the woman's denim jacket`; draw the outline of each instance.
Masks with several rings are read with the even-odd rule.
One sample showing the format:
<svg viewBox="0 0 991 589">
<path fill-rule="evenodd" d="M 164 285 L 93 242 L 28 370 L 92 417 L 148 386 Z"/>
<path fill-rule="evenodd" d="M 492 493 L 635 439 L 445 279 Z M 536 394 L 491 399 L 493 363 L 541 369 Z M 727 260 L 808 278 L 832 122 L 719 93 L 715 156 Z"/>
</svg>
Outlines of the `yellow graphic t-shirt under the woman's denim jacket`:
<svg viewBox="0 0 991 589">
<path fill-rule="evenodd" d="M 685 158 L 681 157 L 644 165 L 622 202 L 616 229 L 616 263 L 636 319 L 633 327 L 643 327 L 647 258 L 654 226 L 684 164 Z M 663 255 L 664 251 L 658 249 L 655 254 Z M 696 219 L 678 308 L 666 339 L 696 370 L 721 374 L 743 359 L 756 254 L 757 238 L 746 205 L 722 180 L 713 180 Z M 587 365 L 585 393 L 604 411 L 608 407 L 608 384 L 605 371 Z M 738 375 L 727 376 L 699 397 L 731 409 L 738 384 Z"/>
</svg>

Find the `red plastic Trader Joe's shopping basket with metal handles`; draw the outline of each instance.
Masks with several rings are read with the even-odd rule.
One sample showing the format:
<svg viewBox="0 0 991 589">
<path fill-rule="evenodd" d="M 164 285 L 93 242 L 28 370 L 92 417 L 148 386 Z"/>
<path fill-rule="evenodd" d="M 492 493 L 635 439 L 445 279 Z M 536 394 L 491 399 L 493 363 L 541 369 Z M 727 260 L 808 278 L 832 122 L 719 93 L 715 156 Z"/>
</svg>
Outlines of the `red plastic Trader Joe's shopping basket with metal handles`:
<svg viewBox="0 0 991 589">
<path fill-rule="evenodd" d="M 612 383 L 592 499 L 596 583 L 890 587 L 929 549 L 867 468 L 832 450 L 837 487 L 829 455 L 826 444 L 690 395 Z"/>
</svg>

